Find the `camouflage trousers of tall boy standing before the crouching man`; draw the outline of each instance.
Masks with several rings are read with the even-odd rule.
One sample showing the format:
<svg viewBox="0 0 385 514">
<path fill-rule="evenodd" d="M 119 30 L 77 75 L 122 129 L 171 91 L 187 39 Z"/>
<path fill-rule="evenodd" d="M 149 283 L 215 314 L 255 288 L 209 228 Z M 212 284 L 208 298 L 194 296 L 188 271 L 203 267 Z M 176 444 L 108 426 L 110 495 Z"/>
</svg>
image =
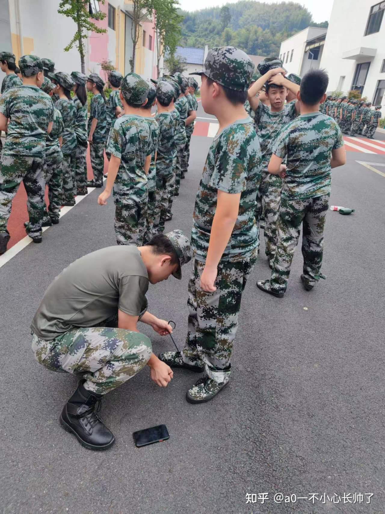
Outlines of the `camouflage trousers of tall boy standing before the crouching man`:
<svg viewBox="0 0 385 514">
<path fill-rule="evenodd" d="M 207 375 L 227 381 L 238 329 L 242 292 L 257 260 L 257 250 L 239 262 L 220 262 L 214 292 L 201 289 L 204 262 L 192 259 L 188 283 L 188 332 L 182 358 L 186 364 L 203 361 Z"/>
</svg>

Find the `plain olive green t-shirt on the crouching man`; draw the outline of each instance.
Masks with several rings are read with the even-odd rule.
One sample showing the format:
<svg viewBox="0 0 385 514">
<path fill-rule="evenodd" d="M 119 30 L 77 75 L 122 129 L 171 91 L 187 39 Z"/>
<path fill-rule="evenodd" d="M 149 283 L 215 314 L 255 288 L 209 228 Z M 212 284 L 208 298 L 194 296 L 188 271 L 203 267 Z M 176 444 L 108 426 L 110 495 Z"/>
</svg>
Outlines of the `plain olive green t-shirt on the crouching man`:
<svg viewBox="0 0 385 514">
<path fill-rule="evenodd" d="M 51 341 L 72 328 L 92 327 L 118 309 L 141 316 L 147 309 L 148 274 L 136 246 L 109 246 L 84 255 L 48 286 L 32 320 L 37 337 Z"/>
</svg>

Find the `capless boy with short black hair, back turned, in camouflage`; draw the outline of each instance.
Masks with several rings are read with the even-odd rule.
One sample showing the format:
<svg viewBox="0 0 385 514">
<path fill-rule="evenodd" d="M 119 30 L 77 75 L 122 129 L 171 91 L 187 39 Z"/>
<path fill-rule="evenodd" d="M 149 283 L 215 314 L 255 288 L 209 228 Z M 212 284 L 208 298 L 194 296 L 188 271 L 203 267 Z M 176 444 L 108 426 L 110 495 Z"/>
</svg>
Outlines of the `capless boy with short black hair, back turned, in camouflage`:
<svg viewBox="0 0 385 514">
<path fill-rule="evenodd" d="M 277 253 L 270 280 L 257 282 L 264 292 L 281 298 L 287 287 L 294 251 L 303 224 L 301 281 L 310 291 L 321 277 L 323 231 L 329 208 L 332 168 L 346 161 L 340 128 L 319 112 L 328 75 L 309 71 L 301 82 L 298 100 L 301 115 L 288 123 L 273 145 L 268 171 L 283 177 L 279 207 Z M 287 169 L 282 164 L 287 157 Z"/>
</svg>

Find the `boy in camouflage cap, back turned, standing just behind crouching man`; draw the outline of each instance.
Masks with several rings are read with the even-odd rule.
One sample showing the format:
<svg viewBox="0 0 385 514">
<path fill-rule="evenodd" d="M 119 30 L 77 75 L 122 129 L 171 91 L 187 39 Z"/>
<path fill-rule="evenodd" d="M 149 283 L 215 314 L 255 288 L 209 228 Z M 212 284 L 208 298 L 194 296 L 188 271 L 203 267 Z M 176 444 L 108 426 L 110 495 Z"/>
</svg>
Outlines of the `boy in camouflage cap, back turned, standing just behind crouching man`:
<svg viewBox="0 0 385 514">
<path fill-rule="evenodd" d="M 111 127 L 107 143 L 111 158 L 106 187 L 98 203 L 106 205 L 113 189 L 118 245 L 141 246 L 146 230 L 152 141 L 140 108 L 147 101 L 148 90 L 148 83 L 140 75 L 129 73 L 124 77 L 120 94 L 124 114 Z"/>
</svg>

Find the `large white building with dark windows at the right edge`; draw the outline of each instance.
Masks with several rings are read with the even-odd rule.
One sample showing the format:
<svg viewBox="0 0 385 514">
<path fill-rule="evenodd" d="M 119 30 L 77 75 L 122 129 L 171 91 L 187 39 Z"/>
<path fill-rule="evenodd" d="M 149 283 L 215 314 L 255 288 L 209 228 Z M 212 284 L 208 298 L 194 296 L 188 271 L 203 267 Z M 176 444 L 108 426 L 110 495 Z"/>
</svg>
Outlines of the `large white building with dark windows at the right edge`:
<svg viewBox="0 0 385 514">
<path fill-rule="evenodd" d="M 330 91 L 360 91 L 385 107 L 385 2 L 334 0 L 321 68 Z"/>
</svg>

